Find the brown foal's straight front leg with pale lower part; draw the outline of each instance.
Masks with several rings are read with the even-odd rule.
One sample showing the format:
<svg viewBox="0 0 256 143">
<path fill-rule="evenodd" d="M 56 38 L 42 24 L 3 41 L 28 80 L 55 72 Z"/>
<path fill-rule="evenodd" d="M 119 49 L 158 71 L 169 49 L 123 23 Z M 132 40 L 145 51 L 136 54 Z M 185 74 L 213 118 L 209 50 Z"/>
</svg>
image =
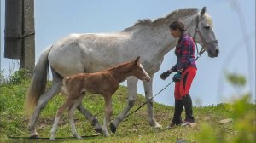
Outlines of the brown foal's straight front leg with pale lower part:
<svg viewBox="0 0 256 143">
<path fill-rule="evenodd" d="M 110 116 L 112 115 L 112 99 L 111 99 L 111 94 L 104 96 L 105 100 L 105 117 L 103 120 L 103 134 L 105 136 L 109 136 L 110 134 L 108 133 L 108 123 L 110 121 Z"/>
</svg>

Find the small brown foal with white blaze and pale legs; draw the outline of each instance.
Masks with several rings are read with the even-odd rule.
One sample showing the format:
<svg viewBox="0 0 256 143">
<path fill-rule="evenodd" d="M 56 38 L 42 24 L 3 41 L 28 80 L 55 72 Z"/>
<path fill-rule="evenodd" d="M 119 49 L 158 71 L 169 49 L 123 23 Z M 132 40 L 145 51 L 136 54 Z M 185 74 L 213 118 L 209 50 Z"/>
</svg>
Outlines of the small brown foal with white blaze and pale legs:
<svg viewBox="0 0 256 143">
<path fill-rule="evenodd" d="M 108 123 L 112 114 L 112 95 L 119 88 L 119 83 L 123 82 L 126 77 L 135 76 L 140 80 L 149 82 L 150 77 L 145 72 L 143 66 L 139 62 L 140 57 L 136 60 L 131 60 L 113 66 L 102 72 L 95 73 L 79 73 L 74 76 L 65 77 L 62 81 L 62 94 L 67 94 L 66 102 L 61 105 L 56 112 L 55 122 L 50 131 L 50 140 L 55 140 L 55 132 L 61 114 L 68 108 L 68 118 L 71 125 L 72 134 L 74 137 L 80 139 L 81 137 L 76 131 L 73 122 L 74 111 L 82 102 L 84 93 L 90 92 L 93 94 L 102 94 L 105 100 L 105 117 L 103 120 L 102 132 L 105 136 L 108 134 Z"/>
</svg>

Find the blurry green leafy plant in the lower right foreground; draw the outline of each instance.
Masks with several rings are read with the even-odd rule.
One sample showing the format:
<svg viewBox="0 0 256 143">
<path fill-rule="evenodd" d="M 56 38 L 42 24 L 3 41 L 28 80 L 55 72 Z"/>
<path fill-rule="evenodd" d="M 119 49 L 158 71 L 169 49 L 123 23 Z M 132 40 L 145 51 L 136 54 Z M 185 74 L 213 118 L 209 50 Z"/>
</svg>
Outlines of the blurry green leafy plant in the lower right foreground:
<svg viewBox="0 0 256 143">
<path fill-rule="evenodd" d="M 239 74 L 226 73 L 228 82 L 235 87 L 241 89 L 246 85 L 246 78 Z M 237 90 L 237 93 L 241 93 Z M 250 103 L 250 94 L 239 94 L 240 99 L 236 100 L 230 106 L 226 106 L 232 117 L 233 130 L 236 133 L 230 134 L 229 129 L 222 124 L 221 128 L 212 126 L 208 123 L 201 123 L 201 132 L 197 134 L 200 142 L 209 143 L 253 143 L 256 140 L 256 105 Z"/>
</svg>

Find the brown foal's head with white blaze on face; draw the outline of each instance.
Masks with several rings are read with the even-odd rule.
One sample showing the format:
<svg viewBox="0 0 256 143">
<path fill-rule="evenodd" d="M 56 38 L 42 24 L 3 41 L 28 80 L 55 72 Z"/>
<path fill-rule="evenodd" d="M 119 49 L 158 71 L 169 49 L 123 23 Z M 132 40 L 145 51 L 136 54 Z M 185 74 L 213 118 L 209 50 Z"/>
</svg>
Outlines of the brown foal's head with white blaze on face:
<svg viewBox="0 0 256 143">
<path fill-rule="evenodd" d="M 132 62 L 132 75 L 142 80 L 143 82 L 149 82 L 150 77 L 148 76 L 148 73 L 144 70 L 143 65 L 140 64 L 140 57 L 138 56 L 136 60 L 133 60 Z"/>
</svg>

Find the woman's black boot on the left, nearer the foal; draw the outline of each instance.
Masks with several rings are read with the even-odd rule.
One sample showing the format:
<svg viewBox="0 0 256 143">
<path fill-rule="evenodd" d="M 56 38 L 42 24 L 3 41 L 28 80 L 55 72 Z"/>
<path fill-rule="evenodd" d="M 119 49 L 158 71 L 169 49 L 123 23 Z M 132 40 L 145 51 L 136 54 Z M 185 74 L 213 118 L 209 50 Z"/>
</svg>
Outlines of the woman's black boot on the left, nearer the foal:
<svg viewBox="0 0 256 143">
<path fill-rule="evenodd" d="M 183 100 L 175 100 L 175 109 L 174 109 L 174 115 L 172 118 L 172 124 L 178 125 L 183 122 L 181 118 L 182 112 L 183 112 Z"/>
</svg>

